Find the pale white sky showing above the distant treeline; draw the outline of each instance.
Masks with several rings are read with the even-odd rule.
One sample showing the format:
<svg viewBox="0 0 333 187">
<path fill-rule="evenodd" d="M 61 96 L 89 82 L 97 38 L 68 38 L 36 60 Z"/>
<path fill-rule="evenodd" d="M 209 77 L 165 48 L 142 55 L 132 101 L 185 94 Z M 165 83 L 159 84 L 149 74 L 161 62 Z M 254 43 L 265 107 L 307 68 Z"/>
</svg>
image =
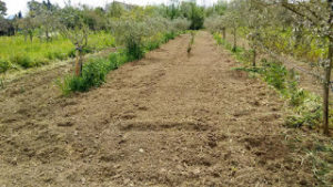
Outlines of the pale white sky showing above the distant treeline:
<svg viewBox="0 0 333 187">
<path fill-rule="evenodd" d="M 19 11 L 22 11 L 23 13 L 27 12 L 27 2 L 29 0 L 2 0 L 7 4 L 7 14 L 12 15 L 18 13 Z M 41 2 L 42 0 L 36 0 Z M 52 3 L 57 3 L 60 7 L 64 4 L 64 1 L 68 0 L 51 0 Z M 91 7 L 104 7 L 107 3 L 112 2 L 113 0 L 71 0 L 72 4 L 89 4 Z M 168 3 L 169 0 L 119 0 L 121 2 L 132 3 L 132 4 L 140 4 L 140 6 L 147 6 L 147 4 L 160 4 L 160 3 Z M 216 2 L 218 0 L 196 0 L 200 4 L 206 4 L 210 6 L 213 2 Z"/>
</svg>

